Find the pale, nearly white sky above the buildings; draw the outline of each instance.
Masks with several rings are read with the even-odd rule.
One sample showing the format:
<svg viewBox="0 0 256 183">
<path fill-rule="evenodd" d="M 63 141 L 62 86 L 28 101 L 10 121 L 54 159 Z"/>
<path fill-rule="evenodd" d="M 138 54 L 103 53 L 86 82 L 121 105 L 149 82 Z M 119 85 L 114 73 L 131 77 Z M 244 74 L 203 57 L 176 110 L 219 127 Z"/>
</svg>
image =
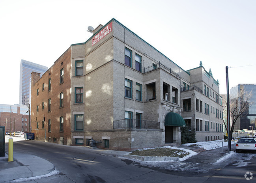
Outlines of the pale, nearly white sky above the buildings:
<svg viewBox="0 0 256 183">
<path fill-rule="evenodd" d="M 115 18 L 184 70 L 199 66 L 226 93 L 256 83 L 255 0 L 0 0 L 0 103 L 19 103 L 21 59 L 50 68 Z"/>
</svg>

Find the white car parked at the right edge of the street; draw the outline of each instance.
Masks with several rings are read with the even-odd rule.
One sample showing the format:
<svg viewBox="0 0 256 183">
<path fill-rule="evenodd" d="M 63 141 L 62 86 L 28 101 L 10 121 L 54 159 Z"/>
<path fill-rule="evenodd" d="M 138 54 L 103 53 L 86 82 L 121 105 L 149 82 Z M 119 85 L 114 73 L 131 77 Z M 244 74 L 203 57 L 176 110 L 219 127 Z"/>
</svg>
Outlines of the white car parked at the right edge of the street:
<svg viewBox="0 0 256 183">
<path fill-rule="evenodd" d="M 240 138 L 236 145 L 235 151 L 237 153 L 245 150 L 255 150 L 256 151 L 256 140 L 254 138 Z"/>
</svg>

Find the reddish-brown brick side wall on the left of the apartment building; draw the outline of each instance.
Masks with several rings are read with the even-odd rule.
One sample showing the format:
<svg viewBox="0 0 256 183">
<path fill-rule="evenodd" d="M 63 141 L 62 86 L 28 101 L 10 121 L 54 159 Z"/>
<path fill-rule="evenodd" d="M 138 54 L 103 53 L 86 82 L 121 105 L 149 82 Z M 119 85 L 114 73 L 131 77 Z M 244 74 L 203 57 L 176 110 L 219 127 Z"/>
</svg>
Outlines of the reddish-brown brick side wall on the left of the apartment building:
<svg viewBox="0 0 256 183">
<path fill-rule="evenodd" d="M 35 139 L 54 141 L 61 144 L 71 145 L 70 131 L 70 69 L 71 48 L 67 49 L 54 65 L 39 79 L 37 75 L 32 78 L 31 89 L 31 127 Z M 64 82 L 60 83 L 60 70 L 64 69 Z M 32 75 L 33 76 L 33 75 Z M 51 78 L 51 90 L 49 90 L 49 78 Z M 44 90 L 43 90 L 44 83 Z M 39 91 L 37 95 L 37 89 Z M 63 107 L 60 107 L 60 93 L 64 94 Z M 48 111 L 48 102 L 51 99 L 51 110 Z M 44 109 L 42 108 L 44 102 Z M 38 106 L 38 111 L 37 111 Z M 44 118 L 45 117 L 45 118 Z M 64 117 L 64 130 L 60 131 L 60 117 Z M 48 121 L 51 120 L 51 129 L 48 131 Z M 44 126 L 43 126 L 44 123 Z M 37 128 L 38 124 L 38 128 Z"/>
</svg>

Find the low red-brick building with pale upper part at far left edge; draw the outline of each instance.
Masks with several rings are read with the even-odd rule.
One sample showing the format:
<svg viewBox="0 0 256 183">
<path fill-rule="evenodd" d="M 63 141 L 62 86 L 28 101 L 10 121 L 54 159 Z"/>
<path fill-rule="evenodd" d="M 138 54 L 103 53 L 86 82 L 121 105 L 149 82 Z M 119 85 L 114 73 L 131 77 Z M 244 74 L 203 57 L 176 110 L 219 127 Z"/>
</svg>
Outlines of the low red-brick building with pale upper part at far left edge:
<svg viewBox="0 0 256 183">
<path fill-rule="evenodd" d="M 12 106 L 13 112 L 10 112 Z M 24 108 L 24 106 L 23 106 Z M 5 127 L 6 132 L 23 131 L 29 132 L 28 115 L 21 111 L 20 106 L 0 104 L 0 126 Z"/>
</svg>

